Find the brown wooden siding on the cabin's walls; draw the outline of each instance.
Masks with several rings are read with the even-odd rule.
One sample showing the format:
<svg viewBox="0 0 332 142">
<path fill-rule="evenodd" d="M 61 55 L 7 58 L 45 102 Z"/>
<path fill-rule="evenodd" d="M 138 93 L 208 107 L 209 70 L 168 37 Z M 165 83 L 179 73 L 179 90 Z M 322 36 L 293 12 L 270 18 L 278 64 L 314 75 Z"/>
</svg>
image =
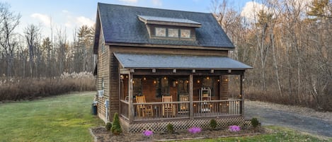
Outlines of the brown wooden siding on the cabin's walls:
<svg viewBox="0 0 332 142">
<path fill-rule="evenodd" d="M 102 35 L 102 34 L 101 34 Z M 101 39 L 101 38 L 100 38 Z M 101 43 L 101 42 L 99 42 Z M 119 81 L 119 63 L 114 56 L 114 52 L 127 53 L 147 53 L 147 54 L 192 54 L 192 55 L 213 55 L 213 56 L 227 56 L 227 51 L 211 50 L 211 49 L 174 49 L 174 48 L 151 48 L 151 47 L 119 47 L 119 46 L 105 46 L 105 52 L 102 53 L 101 45 L 98 49 L 98 85 L 97 89 L 101 89 L 101 78 L 105 83 L 104 97 L 98 98 L 98 116 L 105 119 L 105 100 L 110 100 L 109 105 L 109 121 L 112 121 L 113 114 L 119 112 L 119 96 L 120 96 L 120 81 Z M 151 81 L 150 81 L 151 82 Z M 171 83 L 171 81 L 169 81 Z M 127 81 L 124 80 L 124 85 Z M 149 85 L 144 84 L 142 85 Z M 150 84 L 151 85 L 151 84 Z M 152 84 L 153 85 L 153 84 Z M 156 96 L 156 89 L 143 88 L 144 95 L 147 95 L 147 102 L 161 101 L 161 98 Z M 173 100 L 178 100 L 177 89 L 170 84 L 170 94 L 173 95 Z M 124 90 L 127 93 L 128 90 Z M 125 97 L 124 95 L 123 97 Z M 198 95 L 195 95 L 198 96 Z M 216 98 L 217 99 L 217 98 Z M 198 100 L 198 97 L 195 98 Z"/>
</svg>

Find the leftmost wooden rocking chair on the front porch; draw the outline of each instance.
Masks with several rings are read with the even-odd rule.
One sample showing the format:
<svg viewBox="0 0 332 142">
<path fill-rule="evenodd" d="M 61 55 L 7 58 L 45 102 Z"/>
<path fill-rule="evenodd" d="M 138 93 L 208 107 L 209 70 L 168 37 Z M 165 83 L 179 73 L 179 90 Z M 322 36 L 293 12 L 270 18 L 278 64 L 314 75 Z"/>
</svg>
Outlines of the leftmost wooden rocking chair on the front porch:
<svg viewBox="0 0 332 142">
<path fill-rule="evenodd" d="M 136 96 L 137 103 L 145 103 L 145 96 Z M 154 116 L 154 109 L 152 105 L 137 105 L 137 115 L 138 117 L 153 117 Z"/>
</svg>

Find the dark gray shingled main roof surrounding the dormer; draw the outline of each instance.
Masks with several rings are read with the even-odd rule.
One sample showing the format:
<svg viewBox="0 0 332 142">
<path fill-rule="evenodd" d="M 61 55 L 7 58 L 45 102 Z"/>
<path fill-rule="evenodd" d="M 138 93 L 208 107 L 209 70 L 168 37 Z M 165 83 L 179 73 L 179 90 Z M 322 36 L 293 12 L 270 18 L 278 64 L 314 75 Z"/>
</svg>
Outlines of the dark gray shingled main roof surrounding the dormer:
<svg viewBox="0 0 332 142">
<path fill-rule="evenodd" d="M 105 42 L 234 48 L 212 13 L 98 3 L 98 14 Z M 137 16 L 188 19 L 201 23 L 202 27 L 196 28 L 196 41 L 150 39 L 145 24 Z"/>
</svg>

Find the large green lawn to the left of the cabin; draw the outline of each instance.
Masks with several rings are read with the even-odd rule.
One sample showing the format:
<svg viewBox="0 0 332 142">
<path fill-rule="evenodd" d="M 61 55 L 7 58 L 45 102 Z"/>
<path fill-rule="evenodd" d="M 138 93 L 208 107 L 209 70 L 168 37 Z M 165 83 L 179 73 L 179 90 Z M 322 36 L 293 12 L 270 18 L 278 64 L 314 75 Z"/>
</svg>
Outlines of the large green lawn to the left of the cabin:
<svg viewBox="0 0 332 142">
<path fill-rule="evenodd" d="M 94 93 L 0 104 L 0 141 L 93 141 L 88 128 Z"/>
</svg>

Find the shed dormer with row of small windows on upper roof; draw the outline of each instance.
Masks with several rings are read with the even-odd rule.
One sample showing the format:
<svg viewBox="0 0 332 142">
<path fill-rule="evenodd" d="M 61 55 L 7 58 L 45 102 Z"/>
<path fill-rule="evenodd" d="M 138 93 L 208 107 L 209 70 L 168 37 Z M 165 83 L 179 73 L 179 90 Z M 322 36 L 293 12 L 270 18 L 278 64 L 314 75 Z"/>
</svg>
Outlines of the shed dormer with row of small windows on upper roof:
<svg viewBox="0 0 332 142">
<path fill-rule="evenodd" d="M 164 40 L 196 40 L 195 28 L 202 25 L 183 18 L 164 18 L 155 16 L 138 16 L 147 25 L 150 38 Z"/>
</svg>

